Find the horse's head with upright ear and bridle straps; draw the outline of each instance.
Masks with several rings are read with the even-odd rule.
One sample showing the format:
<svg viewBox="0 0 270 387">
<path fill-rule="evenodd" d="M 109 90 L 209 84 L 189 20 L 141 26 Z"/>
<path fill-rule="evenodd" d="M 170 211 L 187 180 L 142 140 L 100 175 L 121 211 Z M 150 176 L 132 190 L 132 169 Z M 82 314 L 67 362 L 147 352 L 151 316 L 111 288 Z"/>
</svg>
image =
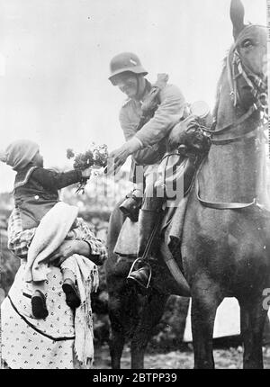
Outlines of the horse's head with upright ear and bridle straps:
<svg viewBox="0 0 270 387">
<path fill-rule="evenodd" d="M 230 19 L 235 43 L 230 50 L 231 83 L 235 104 L 247 109 L 267 93 L 266 27 L 244 24 L 244 7 L 240 0 L 231 0 Z M 260 97 L 261 95 L 261 97 Z"/>
</svg>

